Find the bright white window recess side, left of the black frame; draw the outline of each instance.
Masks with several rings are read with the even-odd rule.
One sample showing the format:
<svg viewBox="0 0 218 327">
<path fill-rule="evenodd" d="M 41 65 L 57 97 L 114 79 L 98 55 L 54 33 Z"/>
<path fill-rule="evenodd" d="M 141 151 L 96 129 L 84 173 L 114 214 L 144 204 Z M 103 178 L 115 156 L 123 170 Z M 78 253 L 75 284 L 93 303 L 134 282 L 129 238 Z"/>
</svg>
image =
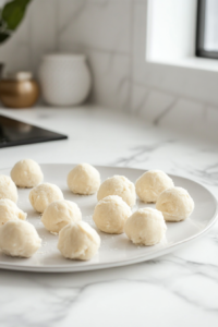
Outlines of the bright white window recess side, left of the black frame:
<svg viewBox="0 0 218 327">
<path fill-rule="evenodd" d="M 148 1 L 148 61 L 175 63 L 195 56 L 196 9 L 196 0 Z"/>
</svg>

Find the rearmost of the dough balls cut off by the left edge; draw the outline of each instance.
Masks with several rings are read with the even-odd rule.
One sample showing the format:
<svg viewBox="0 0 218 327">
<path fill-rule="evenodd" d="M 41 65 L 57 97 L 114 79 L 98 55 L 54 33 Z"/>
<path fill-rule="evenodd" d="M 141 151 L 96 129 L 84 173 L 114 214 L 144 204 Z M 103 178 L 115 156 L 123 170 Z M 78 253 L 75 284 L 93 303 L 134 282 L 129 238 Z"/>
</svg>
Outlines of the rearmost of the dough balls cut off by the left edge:
<svg viewBox="0 0 218 327">
<path fill-rule="evenodd" d="M 17 189 L 9 175 L 0 174 L 0 198 L 10 198 L 17 203 Z"/>
</svg>

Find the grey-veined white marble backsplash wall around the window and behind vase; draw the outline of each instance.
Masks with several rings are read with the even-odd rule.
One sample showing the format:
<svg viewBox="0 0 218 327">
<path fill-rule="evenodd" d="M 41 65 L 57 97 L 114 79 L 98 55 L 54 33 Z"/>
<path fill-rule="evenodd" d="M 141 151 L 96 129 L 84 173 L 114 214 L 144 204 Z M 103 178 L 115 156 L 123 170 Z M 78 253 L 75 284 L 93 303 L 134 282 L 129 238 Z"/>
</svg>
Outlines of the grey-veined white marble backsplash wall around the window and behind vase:
<svg viewBox="0 0 218 327">
<path fill-rule="evenodd" d="M 161 65 L 145 63 L 147 0 L 34 0 L 15 35 L 0 48 L 8 70 L 33 70 L 48 52 L 87 55 L 90 102 L 132 112 L 161 126 L 216 136 L 218 74 L 174 83 Z M 173 85 L 173 87 L 171 86 Z"/>
</svg>

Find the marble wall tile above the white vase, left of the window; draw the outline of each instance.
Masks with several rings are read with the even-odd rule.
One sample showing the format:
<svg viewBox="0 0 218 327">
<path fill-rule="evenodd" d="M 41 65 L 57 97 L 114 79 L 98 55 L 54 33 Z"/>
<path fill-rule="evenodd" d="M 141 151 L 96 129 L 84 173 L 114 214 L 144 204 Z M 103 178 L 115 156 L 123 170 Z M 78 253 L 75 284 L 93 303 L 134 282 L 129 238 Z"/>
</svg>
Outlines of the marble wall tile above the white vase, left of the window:
<svg viewBox="0 0 218 327">
<path fill-rule="evenodd" d="M 69 44 L 114 55 L 130 53 L 131 0 L 61 0 L 60 4 L 61 49 Z"/>
</svg>

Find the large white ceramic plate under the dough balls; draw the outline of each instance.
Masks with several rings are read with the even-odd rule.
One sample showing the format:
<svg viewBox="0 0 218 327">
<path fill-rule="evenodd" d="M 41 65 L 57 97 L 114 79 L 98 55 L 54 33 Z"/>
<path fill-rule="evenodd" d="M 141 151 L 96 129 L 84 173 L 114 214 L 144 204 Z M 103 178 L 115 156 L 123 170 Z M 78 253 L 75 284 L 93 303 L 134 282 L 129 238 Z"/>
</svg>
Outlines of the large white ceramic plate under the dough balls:
<svg viewBox="0 0 218 327">
<path fill-rule="evenodd" d="M 96 195 L 80 196 L 72 194 L 66 186 L 68 172 L 74 165 L 41 165 L 45 181 L 57 184 L 63 192 L 65 199 L 71 199 L 80 206 L 83 220 L 92 221 L 92 214 L 97 203 Z M 104 181 L 113 174 L 123 174 L 132 182 L 144 172 L 144 170 L 120 167 L 96 167 Z M 1 174 L 10 174 L 11 169 L 0 170 Z M 135 246 L 125 234 L 110 235 L 98 231 L 101 238 L 101 247 L 89 262 L 78 262 L 65 259 L 57 249 L 58 237 L 50 234 L 40 222 L 40 216 L 34 211 L 29 202 L 27 189 L 19 190 L 19 206 L 27 213 L 28 221 L 37 229 L 43 239 L 43 247 L 32 258 L 14 258 L 0 253 L 0 268 L 24 271 L 41 272 L 66 272 L 102 269 L 108 267 L 118 267 L 134 263 L 145 262 L 157 256 L 174 251 L 181 245 L 190 243 L 194 239 L 205 233 L 217 219 L 217 201 L 214 195 L 203 185 L 189 179 L 171 175 L 177 186 L 186 189 L 195 202 L 195 209 L 192 216 L 182 222 L 167 223 L 168 230 L 166 239 L 155 246 Z M 149 205 L 154 207 L 154 205 Z M 133 208 L 146 207 L 137 201 Z M 191 246 L 191 245 L 190 245 Z"/>
</svg>

